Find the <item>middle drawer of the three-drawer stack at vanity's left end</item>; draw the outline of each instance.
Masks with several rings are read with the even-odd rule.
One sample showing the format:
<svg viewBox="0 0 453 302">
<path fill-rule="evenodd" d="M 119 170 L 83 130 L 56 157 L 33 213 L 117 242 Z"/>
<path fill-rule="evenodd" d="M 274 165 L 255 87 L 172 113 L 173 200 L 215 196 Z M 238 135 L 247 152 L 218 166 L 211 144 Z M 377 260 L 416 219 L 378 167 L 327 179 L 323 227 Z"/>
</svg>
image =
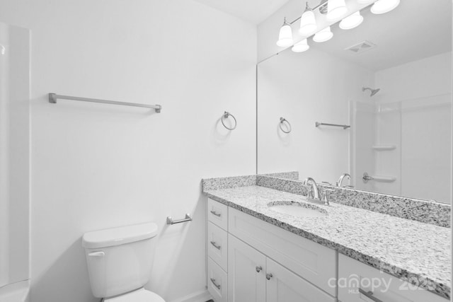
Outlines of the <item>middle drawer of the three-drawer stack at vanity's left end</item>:
<svg viewBox="0 0 453 302">
<path fill-rule="evenodd" d="M 207 222 L 207 255 L 228 272 L 228 233 L 211 221 Z"/>
</svg>

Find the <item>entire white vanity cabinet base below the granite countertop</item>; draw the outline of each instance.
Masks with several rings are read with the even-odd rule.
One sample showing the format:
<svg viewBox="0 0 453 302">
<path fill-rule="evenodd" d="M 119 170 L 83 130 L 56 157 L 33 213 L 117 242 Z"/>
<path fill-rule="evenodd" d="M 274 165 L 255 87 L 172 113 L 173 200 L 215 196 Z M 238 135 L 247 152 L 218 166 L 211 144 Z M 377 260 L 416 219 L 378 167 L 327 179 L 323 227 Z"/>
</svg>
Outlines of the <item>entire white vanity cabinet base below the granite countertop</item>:
<svg viewBox="0 0 453 302">
<path fill-rule="evenodd" d="M 212 199 L 207 205 L 215 302 L 447 302 L 272 223 Z"/>
</svg>

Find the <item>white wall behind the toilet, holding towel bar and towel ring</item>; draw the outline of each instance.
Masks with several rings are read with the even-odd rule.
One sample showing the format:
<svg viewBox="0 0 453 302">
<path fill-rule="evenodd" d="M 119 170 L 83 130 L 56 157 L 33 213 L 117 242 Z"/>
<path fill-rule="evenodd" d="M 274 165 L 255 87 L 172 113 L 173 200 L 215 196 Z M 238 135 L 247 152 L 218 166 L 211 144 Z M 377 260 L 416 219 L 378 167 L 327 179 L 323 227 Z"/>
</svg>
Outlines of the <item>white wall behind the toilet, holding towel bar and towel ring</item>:
<svg viewBox="0 0 453 302">
<path fill-rule="evenodd" d="M 0 0 L 0 21 L 32 32 L 33 302 L 98 301 L 82 234 L 143 221 L 160 230 L 149 289 L 203 291 L 200 179 L 255 172 L 256 28 L 188 0 Z M 163 110 L 52 105 L 50 92 Z"/>
</svg>

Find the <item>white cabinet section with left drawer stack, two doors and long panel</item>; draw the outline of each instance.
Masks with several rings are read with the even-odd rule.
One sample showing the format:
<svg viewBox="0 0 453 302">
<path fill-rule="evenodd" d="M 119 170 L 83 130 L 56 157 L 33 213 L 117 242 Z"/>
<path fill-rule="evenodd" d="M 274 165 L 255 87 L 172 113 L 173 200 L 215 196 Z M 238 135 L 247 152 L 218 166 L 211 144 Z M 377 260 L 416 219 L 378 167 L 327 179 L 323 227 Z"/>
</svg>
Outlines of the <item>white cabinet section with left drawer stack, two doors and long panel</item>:
<svg viewBox="0 0 453 302">
<path fill-rule="evenodd" d="M 335 284 L 328 286 L 335 250 L 225 207 L 208 199 L 207 284 L 215 302 L 336 301 Z"/>
</svg>

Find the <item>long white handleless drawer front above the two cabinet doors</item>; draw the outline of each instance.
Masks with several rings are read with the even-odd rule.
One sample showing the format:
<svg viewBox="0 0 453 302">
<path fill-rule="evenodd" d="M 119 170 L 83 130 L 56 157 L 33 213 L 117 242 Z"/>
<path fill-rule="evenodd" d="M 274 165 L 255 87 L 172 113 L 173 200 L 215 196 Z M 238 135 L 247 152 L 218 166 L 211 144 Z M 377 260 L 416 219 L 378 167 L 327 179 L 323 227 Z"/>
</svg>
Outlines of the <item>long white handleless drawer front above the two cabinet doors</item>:
<svg viewBox="0 0 453 302">
<path fill-rule="evenodd" d="M 229 209 L 229 233 L 336 296 L 336 250 L 323 247 L 236 209 Z M 333 283 L 333 284 L 332 284 Z"/>
</svg>

